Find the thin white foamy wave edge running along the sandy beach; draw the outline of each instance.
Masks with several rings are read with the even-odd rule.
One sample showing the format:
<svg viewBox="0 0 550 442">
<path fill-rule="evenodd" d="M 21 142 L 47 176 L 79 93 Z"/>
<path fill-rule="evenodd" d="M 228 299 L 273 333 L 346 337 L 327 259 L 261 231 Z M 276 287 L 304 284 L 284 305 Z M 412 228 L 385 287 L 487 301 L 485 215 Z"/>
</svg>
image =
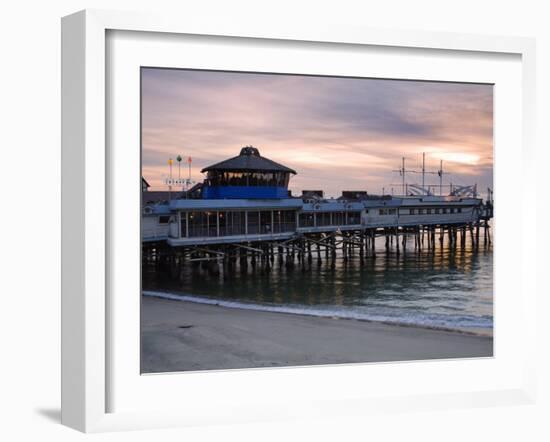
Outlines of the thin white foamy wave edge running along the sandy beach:
<svg viewBox="0 0 550 442">
<path fill-rule="evenodd" d="M 395 327 L 420 328 L 425 330 L 457 333 L 457 334 L 466 335 L 466 336 L 480 336 L 480 337 L 493 338 L 492 330 L 491 332 L 473 331 L 472 329 L 479 330 L 479 328 L 475 328 L 475 327 L 472 327 L 472 329 L 466 329 L 466 328 L 456 329 L 456 328 L 437 326 L 437 325 L 416 324 L 413 322 L 379 320 L 379 319 L 362 317 L 361 315 L 345 316 L 334 312 L 324 314 L 324 313 L 320 313 L 319 311 L 308 311 L 304 309 L 294 308 L 291 306 L 283 306 L 278 304 L 255 304 L 255 303 L 248 303 L 245 301 L 229 301 L 229 300 L 221 300 L 217 298 L 209 298 L 206 296 L 178 294 L 178 293 L 172 293 L 172 292 L 161 292 L 161 291 L 153 291 L 153 290 L 143 290 L 142 296 L 158 298 L 158 299 L 166 299 L 166 300 L 178 301 L 178 302 L 190 302 L 190 303 L 203 304 L 203 305 L 213 305 L 213 306 L 218 306 L 223 308 L 240 309 L 240 310 L 246 310 L 251 312 L 271 312 L 271 313 L 278 313 L 278 314 L 284 314 L 284 315 L 297 315 L 297 316 L 305 316 L 305 317 L 313 317 L 313 318 L 327 318 L 327 319 L 335 319 L 335 320 L 342 320 L 342 321 L 361 321 L 361 322 L 368 322 L 373 324 L 385 324 L 385 325 L 395 326 Z"/>
</svg>

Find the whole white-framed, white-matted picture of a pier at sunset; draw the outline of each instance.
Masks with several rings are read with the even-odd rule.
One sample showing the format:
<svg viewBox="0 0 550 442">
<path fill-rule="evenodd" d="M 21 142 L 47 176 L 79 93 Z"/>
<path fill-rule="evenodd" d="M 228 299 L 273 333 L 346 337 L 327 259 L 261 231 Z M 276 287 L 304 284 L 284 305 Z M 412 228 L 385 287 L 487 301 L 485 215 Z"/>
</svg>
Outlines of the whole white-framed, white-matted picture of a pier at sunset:
<svg viewBox="0 0 550 442">
<path fill-rule="evenodd" d="M 64 424 L 533 400 L 533 41 L 62 26 Z"/>
</svg>

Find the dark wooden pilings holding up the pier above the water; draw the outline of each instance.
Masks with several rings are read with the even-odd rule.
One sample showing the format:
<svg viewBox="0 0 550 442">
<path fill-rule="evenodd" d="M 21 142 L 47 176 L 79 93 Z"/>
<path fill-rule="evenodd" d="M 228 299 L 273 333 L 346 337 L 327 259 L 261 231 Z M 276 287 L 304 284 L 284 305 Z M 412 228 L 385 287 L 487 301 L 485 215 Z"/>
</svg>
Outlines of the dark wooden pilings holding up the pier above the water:
<svg viewBox="0 0 550 442">
<path fill-rule="evenodd" d="M 482 234 L 480 234 L 482 232 Z M 384 245 L 383 252 L 376 242 Z M 219 244 L 189 244 L 172 247 L 166 242 L 143 245 L 143 260 L 148 263 L 199 267 L 214 275 L 231 272 L 269 272 L 272 269 L 311 268 L 312 265 L 336 265 L 336 260 L 356 260 L 360 265 L 381 253 L 406 251 L 436 253 L 448 247 L 452 251 L 491 246 L 490 225 L 486 221 L 468 224 L 376 227 L 346 231 L 300 232 L 286 239 L 262 238 Z M 377 250 L 378 249 L 378 250 Z"/>
</svg>

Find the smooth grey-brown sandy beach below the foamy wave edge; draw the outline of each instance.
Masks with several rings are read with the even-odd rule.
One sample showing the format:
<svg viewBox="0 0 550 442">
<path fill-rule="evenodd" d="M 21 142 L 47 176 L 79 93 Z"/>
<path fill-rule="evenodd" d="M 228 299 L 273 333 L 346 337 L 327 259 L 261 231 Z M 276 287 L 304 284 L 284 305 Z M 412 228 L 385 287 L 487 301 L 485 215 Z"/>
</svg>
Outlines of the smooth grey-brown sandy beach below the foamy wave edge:
<svg viewBox="0 0 550 442">
<path fill-rule="evenodd" d="M 142 297 L 143 373 L 493 354 L 491 337 Z"/>
</svg>

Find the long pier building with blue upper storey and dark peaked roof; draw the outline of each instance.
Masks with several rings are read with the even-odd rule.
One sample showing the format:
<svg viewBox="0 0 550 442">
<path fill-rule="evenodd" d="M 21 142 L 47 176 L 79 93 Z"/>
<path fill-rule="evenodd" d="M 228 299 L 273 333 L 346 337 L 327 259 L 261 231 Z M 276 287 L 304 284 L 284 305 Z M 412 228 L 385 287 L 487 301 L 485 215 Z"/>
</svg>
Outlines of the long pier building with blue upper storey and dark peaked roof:
<svg viewBox="0 0 550 442">
<path fill-rule="evenodd" d="M 460 235 L 460 243 L 470 232 L 479 243 L 480 227 L 485 244 L 490 242 L 492 201 L 484 203 L 475 190 L 438 196 L 429 191 L 400 196 L 343 191 L 338 198 L 304 191 L 292 196 L 288 185 L 296 171 L 252 146 L 201 172 L 206 177 L 199 193 L 143 207 L 144 248 L 162 243 L 191 259 L 218 259 L 237 249 L 239 254 L 264 249 L 294 253 L 313 246 L 334 256 L 337 249 L 374 250 L 377 236 L 385 236 L 389 244 L 395 238 L 397 250 L 400 240 L 406 247 L 411 236 L 415 247 L 422 247 L 424 235 L 434 247 L 436 232 L 440 241 L 445 233 L 455 242 Z"/>
</svg>

